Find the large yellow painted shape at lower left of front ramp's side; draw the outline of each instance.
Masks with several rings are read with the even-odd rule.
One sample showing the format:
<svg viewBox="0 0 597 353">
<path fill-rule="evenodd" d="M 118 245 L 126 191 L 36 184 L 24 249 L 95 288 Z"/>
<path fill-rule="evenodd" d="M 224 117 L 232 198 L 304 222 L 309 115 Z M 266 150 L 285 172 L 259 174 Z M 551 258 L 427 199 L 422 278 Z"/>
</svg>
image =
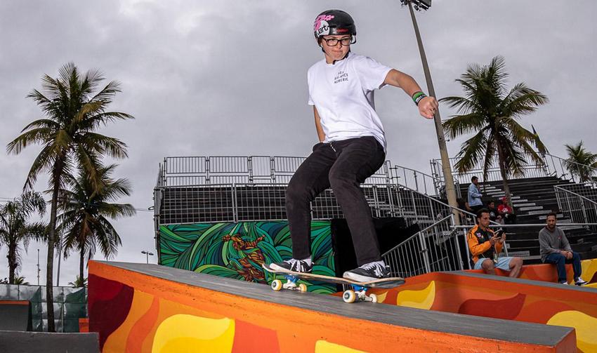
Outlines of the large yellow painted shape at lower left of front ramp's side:
<svg viewBox="0 0 597 353">
<path fill-rule="evenodd" d="M 177 314 L 159 324 L 152 352 L 230 352 L 235 321 Z"/>
</svg>

